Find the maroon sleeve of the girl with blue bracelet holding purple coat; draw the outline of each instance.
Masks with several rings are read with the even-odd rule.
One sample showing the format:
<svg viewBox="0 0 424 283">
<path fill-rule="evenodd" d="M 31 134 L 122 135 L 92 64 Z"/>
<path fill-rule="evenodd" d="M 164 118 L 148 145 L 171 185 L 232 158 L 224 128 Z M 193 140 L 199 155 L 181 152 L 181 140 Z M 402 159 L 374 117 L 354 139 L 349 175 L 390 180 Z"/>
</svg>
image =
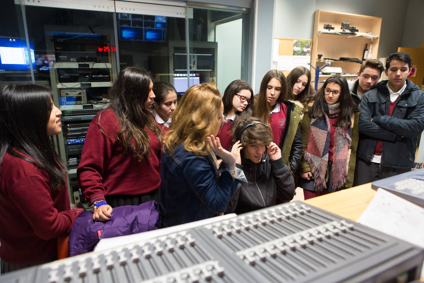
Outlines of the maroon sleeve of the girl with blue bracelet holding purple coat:
<svg viewBox="0 0 424 283">
<path fill-rule="evenodd" d="M 88 128 L 81 162 L 77 169 L 79 185 L 85 198 L 90 202 L 105 199 L 106 190 L 103 186 L 103 176 L 114 151 L 114 141 L 109 135 L 103 134 L 96 122 L 97 116 Z"/>
</svg>

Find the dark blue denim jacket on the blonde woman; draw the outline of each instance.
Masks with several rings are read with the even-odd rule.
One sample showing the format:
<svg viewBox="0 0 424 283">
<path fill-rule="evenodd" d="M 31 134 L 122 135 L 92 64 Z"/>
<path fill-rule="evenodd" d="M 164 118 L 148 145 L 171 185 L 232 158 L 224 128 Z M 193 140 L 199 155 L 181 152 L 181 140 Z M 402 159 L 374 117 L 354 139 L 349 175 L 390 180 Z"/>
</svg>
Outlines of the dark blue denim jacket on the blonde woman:
<svg viewBox="0 0 424 283">
<path fill-rule="evenodd" d="M 224 213 L 237 187 L 228 166 L 219 171 L 209 155 L 197 156 L 179 145 L 162 153 L 159 210 L 163 226 L 173 226 Z"/>
</svg>

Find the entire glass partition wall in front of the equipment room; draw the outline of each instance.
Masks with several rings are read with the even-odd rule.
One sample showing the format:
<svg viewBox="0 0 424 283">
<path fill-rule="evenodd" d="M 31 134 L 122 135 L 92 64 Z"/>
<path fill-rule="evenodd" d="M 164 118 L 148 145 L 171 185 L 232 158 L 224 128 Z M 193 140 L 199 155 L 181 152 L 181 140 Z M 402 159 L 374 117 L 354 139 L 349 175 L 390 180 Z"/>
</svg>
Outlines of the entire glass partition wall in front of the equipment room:
<svg viewBox="0 0 424 283">
<path fill-rule="evenodd" d="M 113 8 L 90 11 L 72 3 L 65 5 L 72 8 L 58 8 L 53 2 L 56 7 L 4 2 L 1 66 L 12 63 L 15 69 L 0 66 L 0 84 L 34 80 L 51 87 L 62 111 L 62 132 L 53 139 L 66 164 L 72 202 L 84 200 L 76 168 L 86 131 L 108 106 L 108 90 L 120 69 L 138 65 L 151 70 L 153 82 L 170 82 L 179 98 L 201 82 L 216 84 L 223 94 L 231 81 L 248 80 L 245 9 L 114 1 Z M 20 44 L 18 57 L 5 55 L 15 47 L 2 45 L 8 41 Z"/>
</svg>

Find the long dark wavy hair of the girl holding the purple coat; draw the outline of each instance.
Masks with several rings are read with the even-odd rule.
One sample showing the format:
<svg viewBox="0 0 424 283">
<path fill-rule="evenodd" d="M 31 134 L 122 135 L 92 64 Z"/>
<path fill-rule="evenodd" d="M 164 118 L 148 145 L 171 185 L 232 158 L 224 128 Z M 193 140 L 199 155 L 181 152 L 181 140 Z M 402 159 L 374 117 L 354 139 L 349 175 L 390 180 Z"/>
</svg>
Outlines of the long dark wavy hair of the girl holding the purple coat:
<svg viewBox="0 0 424 283">
<path fill-rule="evenodd" d="M 150 81 L 149 71 L 134 66 L 126 67 L 120 71 L 109 90 L 110 107 L 121 126 L 116 135 L 117 140 L 122 144 L 124 152 L 133 152 L 139 160 L 150 156 L 150 137 L 145 127 L 162 144 L 161 131 L 144 107 L 149 96 Z"/>
</svg>

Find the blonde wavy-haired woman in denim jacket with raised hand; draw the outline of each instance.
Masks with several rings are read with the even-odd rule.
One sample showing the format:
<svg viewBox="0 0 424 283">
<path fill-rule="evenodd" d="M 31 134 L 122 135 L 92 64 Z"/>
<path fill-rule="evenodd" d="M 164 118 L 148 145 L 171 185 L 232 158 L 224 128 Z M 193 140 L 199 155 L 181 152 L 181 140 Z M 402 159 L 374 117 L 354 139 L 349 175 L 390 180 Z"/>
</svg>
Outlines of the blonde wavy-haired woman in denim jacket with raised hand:
<svg viewBox="0 0 424 283">
<path fill-rule="evenodd" d="M 159 209 L 169 227 L 224 213 L 243 171 L 220 144 L 223 103 L 213 84 L 190 87 L 173 114 L 161 161 Z M 235 149 L 240 151 L 240 149 Z M 218 165 L 216 155 L 222 159 Z"/>
</svg>

